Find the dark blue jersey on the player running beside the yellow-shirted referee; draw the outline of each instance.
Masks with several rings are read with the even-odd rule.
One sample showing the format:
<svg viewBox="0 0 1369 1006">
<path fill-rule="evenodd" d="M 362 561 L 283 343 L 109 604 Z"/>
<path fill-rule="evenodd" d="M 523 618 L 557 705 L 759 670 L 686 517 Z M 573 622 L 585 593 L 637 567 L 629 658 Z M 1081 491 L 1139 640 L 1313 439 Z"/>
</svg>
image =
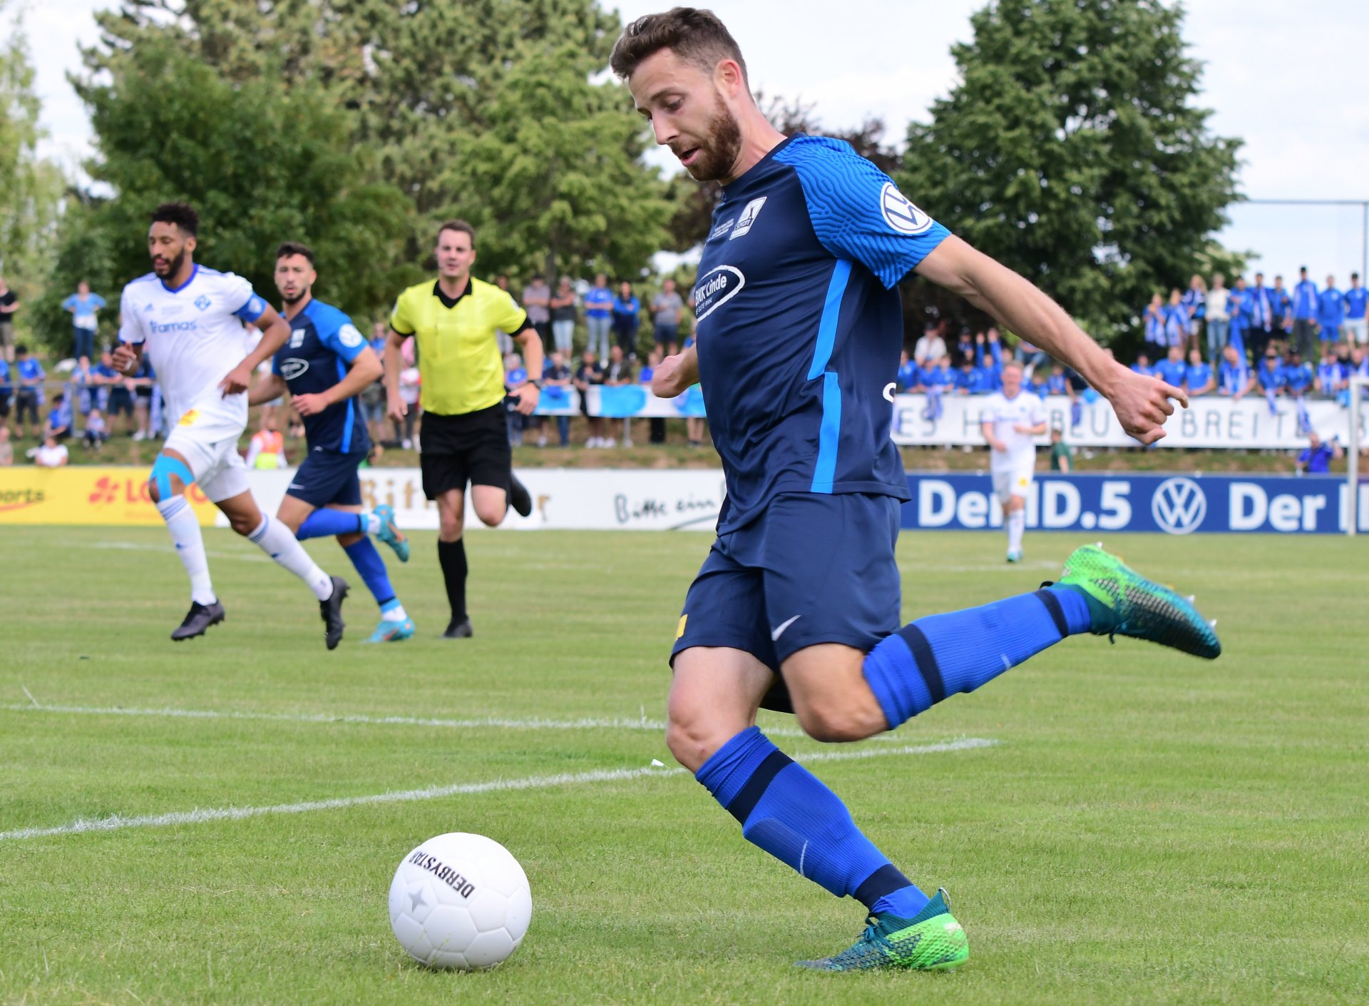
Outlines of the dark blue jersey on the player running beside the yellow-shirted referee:
<svg viewBox="0 0 1369 1006">
<path fill-rule="evenodd" d="M 341 384 L 352 360 L 366 348 L 366 339 L 352 319 L 331 304 L 309 300 L 289 322 L 290 339 L 277 349 L 271 370 L 285 378 L 292 395 L 318 395 Z M 371 448 L 355 397 L 303 419 L 311 451 L 350 454 Z"/>
</svg>

